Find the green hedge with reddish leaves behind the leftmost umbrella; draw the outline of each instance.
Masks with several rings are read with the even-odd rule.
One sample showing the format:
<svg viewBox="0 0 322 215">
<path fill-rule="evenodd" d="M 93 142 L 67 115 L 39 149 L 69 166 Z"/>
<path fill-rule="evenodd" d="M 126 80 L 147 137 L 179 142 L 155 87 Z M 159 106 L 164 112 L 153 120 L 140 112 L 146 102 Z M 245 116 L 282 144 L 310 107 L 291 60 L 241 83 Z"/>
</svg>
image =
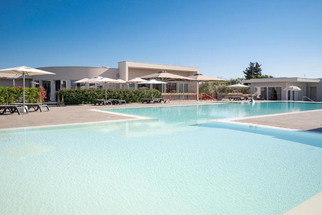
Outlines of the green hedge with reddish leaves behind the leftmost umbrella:
<svg viewBox="0 0 322 215">
<path fill-rule="evenodd" d="M 24 92 L 21 87 L 0 87 L 0 104 L 15 103 L 17 99 L 23 97 L 23 94 Z M 26 103 L 39 103 L 38 98 L 38 88 L 25 88 Z"/>
</svg>

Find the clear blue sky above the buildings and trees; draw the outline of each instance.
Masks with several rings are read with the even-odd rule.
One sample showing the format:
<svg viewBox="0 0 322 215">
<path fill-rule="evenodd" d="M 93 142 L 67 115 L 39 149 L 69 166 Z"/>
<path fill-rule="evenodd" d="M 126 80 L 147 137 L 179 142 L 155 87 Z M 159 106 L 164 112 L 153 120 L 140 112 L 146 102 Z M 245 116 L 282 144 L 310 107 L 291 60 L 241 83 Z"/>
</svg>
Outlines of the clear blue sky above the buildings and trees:
<svg viewBox="0 0 322 215">
<path fill-rule="evenodd" d="M 1 1 L 0 69 L 140 61 L 322 78 L 322 1 Z"/>
</svg>

